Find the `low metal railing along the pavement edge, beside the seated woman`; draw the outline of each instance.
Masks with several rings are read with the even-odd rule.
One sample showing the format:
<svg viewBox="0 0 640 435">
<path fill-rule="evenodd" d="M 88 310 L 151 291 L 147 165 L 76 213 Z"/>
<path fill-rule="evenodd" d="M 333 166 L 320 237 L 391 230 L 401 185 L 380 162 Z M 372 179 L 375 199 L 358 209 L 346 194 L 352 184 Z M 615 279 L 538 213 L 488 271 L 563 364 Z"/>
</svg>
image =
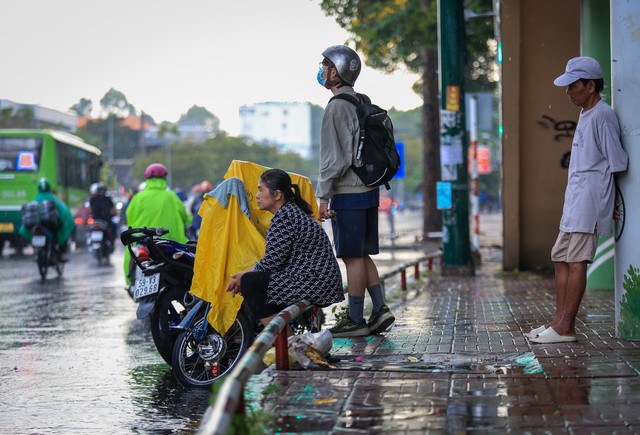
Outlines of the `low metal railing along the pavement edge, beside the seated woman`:
<svg viewBox="0 0 640 435">
<path fill-rule="evenodd" d="M 400 288 L 407 290 L 407 269 L 413 267 L 414 278 L 420 279 L 420 263 L 427 263 L 427 270 L 431 271 L 436 259 L 442 260 L 442 252 L 437 251 L 427 254 L 418 260 L 401 264 L 389 272 L 380 275 L 380 281 L 400 274 Z M 226 435 L 233 416 L 244 414 L 244 385 L 253 375 L 262 362 L 262 358 L 271 348 L 275 341 L 276 348 L 276 369 L 289 369 L 289 349 L 287 339 L 287 324 L 300 314 L 308 311 L 313 305 L 308 300 L 299 301 L 278 313 L 273 320 L 258 335 L 253 345 L 247 350 L 238 365 L 231 371 L 223 381 L 218 390 L 213 405 L 209 406 L 202 417 L 202 422 L 198 428 L 198 434 Z"/>
</svg>

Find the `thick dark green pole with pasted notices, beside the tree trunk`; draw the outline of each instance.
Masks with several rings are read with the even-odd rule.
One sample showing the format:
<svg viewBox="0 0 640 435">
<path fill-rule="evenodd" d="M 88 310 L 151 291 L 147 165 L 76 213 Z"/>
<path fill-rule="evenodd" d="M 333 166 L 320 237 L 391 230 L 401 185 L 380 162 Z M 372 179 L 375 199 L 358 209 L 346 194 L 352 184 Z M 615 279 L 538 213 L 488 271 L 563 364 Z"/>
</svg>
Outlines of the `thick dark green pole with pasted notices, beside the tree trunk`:
<svg viewBox="0 0 640 435">
<path fill-rule="evenodd" d="M 438 41 L 442 167 L 442 181 L 439 184 L 446 187 L 441 191 L 450 193 L 450 200 L 444 201 L 445 205 L 442 207 L 442 273 L 472 275 L 474 266 L 469 242 L 468 145 L 464 117 L 466 45 L 463 0 L 438 1 Z"/>
</svg>

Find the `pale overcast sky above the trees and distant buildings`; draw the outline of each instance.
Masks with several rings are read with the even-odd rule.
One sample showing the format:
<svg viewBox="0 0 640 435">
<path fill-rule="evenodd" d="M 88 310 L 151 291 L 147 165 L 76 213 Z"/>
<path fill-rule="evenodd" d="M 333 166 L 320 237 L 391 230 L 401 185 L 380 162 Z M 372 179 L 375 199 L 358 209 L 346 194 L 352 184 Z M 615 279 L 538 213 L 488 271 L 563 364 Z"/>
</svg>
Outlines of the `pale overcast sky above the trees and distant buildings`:
<svg viewBox="0 0 640 435">
<path fill-rule="evenodd" d="M 0 99 L 66 112 L 87 98 L 97 116 L 114 88 L 158 123 L 198 105 L 232 135 L 245 104 L 324 107 L 321 53 L 349 38 L 319 0 L 13 0 L 0 17 Z M 409 110 L 417 79 L 364 64 L 355 89 Z"/>
</svg>

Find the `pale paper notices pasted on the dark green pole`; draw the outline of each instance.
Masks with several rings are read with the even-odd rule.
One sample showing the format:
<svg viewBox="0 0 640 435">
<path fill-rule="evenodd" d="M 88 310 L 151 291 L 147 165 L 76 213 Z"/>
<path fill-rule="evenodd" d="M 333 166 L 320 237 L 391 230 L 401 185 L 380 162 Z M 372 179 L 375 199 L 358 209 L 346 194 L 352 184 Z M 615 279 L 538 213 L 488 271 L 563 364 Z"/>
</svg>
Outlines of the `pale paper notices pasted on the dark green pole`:
<svg viewBox="0 0 640 435">
<path fill-rule="evenodd" d="M 452 110 L 440 111 L 440 165 L 443 181 L 458 179 L 458 165 L 462 155 L 462 113 Z"/>
</svg>

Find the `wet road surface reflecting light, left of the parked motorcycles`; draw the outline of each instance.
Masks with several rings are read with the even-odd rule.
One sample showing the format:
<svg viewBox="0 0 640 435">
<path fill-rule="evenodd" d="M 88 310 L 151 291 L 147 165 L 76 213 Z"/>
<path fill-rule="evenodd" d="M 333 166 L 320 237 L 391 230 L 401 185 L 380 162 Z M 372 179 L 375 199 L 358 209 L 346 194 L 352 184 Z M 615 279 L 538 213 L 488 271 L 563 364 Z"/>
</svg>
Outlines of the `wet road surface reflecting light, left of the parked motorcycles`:
<svg viewBox="0 0 640 435">
<path fill-rule="evenodd" d="M 30 257 L 0 259 L 0 433 L 193 433 L 209 393 L 181 387 L 110 266 L 71 254 L 40 281 Z"/>
</svg>

